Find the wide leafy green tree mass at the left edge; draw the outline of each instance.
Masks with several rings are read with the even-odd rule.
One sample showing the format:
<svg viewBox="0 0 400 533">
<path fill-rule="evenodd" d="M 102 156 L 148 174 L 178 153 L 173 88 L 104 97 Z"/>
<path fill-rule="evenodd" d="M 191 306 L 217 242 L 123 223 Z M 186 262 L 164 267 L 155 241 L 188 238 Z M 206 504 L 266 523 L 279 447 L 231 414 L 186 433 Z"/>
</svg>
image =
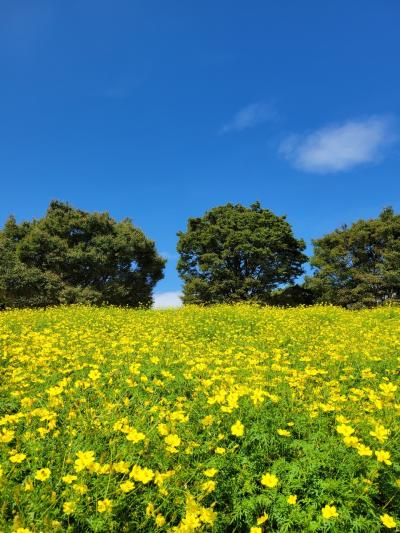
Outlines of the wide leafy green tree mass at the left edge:
<svg viewBox="0 0 400 533">
<path fill-rule="evenodd" d="M 149 306 L 164 265 L 128 218 L 53 201 L 44 218 L 17 224 L 11 216 L 0 231 L 0 302 Z"/>
</svg>

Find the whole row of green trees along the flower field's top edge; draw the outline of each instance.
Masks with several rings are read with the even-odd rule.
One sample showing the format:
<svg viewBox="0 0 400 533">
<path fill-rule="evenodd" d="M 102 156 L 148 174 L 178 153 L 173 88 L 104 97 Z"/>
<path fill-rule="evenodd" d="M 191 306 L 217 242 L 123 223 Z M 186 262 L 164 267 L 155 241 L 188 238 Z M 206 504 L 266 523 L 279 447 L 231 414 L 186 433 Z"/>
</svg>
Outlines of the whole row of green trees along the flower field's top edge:
<svg viewBox="0 0 400 533">
<path fill-rule="evenodd" d="M 392 208 L 313 240 L 310 258 L 286 217 L 259 202 L 215 207 L 177 235 L 185 304 L 400 302 L 400 215 Z M 150 307 L 165 263 L 130 219 L 53 201 L 43 218 L 18 224 L 10 216 L 0 230 L 0 306 Z"/>
</svg>

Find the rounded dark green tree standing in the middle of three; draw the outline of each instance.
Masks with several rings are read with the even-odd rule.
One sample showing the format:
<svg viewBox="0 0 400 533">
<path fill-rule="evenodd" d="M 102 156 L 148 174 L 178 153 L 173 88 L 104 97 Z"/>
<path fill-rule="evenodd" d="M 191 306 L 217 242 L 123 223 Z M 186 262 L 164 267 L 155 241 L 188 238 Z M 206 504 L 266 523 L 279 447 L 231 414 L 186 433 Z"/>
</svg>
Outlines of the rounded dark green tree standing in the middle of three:
<svg viewBox="0 0 400 533">
<path fill-rule="evenodd" d="M 285 217 L 259 202 L 215 207 L 190 218 L 178 237 L 184 303 L 268 302 L 273 289 L 303 273 L 307 260 L 304 241 Z"/>
</svg>

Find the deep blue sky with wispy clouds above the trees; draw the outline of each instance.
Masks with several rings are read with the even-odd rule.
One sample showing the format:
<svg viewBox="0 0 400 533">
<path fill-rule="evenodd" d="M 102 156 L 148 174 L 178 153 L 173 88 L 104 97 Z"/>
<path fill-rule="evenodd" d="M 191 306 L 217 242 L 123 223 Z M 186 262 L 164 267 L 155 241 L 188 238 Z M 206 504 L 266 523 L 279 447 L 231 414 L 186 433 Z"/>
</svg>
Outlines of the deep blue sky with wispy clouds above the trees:
<svg viewBox="0 0 400 533">
<path fill-rule="evenodd" d="M 260 200 L 313 237 L 400 208 L 400 3 L 0 0 L 0 224 Z"/>
</svg>

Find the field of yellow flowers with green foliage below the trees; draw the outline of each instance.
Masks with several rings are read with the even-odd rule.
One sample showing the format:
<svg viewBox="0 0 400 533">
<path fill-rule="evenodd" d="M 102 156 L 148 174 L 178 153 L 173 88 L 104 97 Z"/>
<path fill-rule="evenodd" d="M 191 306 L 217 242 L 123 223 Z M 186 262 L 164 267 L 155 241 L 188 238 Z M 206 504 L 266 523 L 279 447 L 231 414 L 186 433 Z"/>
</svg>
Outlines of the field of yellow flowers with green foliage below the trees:
<svg viewBox="0 0 400 533">
<path fill-rule="evenodd" d="M 400 309 L 0 313 L 0 531 L 400 527 Z"/>
</svg>

